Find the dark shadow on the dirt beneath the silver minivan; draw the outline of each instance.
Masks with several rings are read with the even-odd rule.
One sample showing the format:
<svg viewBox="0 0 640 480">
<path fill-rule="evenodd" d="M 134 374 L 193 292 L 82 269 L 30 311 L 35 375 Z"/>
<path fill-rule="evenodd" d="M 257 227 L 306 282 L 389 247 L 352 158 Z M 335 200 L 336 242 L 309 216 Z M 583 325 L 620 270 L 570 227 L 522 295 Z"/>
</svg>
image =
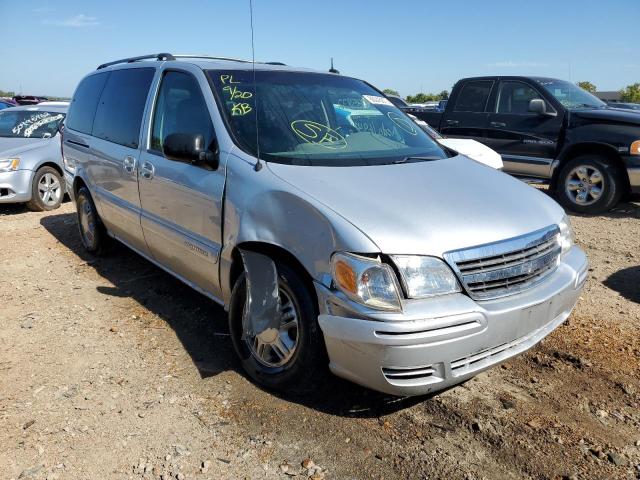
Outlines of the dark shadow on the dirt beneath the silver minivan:
<svg viewBox="0 0 640 480">
<path fill-rule="evenodd" d="M 100 293 L 129 297 L 170 327 L 190 355 L 201 378 L 228 370 L 244 376 L 231 346 L 227 315 L 221 306 L 120 244 L 106 257 L 87 254 L 80 243 L 74 213 L 48 215 L 40 223 L 56 240 L 113 285 L 98 286 Z M 321 374 L 312 391 L 304 394 L 267 393 L 324 413 L 366 418 L 402 410 L 426 399 L 374 392 L 328 372 Z"/>
</svg>

